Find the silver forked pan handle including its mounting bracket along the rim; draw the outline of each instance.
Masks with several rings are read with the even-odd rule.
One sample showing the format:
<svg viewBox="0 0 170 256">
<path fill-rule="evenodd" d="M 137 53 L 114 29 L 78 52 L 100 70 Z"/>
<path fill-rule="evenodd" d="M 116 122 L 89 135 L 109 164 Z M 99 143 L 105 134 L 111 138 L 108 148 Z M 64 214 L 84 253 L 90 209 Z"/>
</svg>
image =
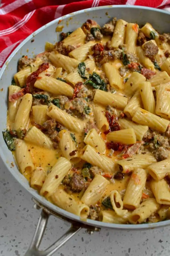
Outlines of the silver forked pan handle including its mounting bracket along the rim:
<svg viewBox="0 0 170 256">
<path fill-rule="evenodd" d="M 92 234 L 94 231 L 100 231 L 100 228 L 89 226 L 77 221 L 70 220 L 66 217 L 63 217 L 62 215 L 57 214 L 56 212 L 46 208 L 44 205 L 42 205 L 40 202 L 38 202 L 36 199 L 32 199 L 35 202 L 34 208 L 41 209 L 41 215 L 40 219 L 38 221 L 37 228 L 34 233 L 34 237 L 32 239 L 32 242 L 30 244 L 30 247 L 28 248 L 27 252 L 24 256 L 51 256 L 53 253 L 55 253 L 61 246 L 63 246 L 64 243 L 66 243 L 70 238 L 72 238 L 81 228 L 87 229 L 87 232 L 89 234 Z M 47 222 L 50 215 L 54 215 L 57 218 L 60 218 L 62 220 L 68 221 L 71 223 L 70 229 L 63 234 L 62 237 L 60 237 L 55 243 L 53 243 L 51 246 L 49 246 L 46 250 L 40 251 L 38 248 L 40 247 Z"/>
</svg>

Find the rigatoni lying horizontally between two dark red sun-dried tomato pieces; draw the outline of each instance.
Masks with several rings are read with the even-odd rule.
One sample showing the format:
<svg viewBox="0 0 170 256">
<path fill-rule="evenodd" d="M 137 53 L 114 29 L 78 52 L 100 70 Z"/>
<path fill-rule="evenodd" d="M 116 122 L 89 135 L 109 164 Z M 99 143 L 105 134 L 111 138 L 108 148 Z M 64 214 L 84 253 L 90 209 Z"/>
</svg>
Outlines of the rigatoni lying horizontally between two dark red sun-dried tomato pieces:
<svg viewBox="0 0 170 256">
<path fill-rule="evenodd" d="M 120 142 L 122 144 L 136 143 L 136 135 L 133 128 L 110 132 L 107 135 L 108 141 Z"/>
</svg>

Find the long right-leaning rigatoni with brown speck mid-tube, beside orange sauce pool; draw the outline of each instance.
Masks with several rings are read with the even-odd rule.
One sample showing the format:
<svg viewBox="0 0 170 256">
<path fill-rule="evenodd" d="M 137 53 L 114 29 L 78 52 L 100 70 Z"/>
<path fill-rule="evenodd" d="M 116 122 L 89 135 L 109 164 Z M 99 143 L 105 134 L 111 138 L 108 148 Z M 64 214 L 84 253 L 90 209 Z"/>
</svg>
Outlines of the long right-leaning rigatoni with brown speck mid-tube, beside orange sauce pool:
<svg viewBox="0 0 170 256">
<path fill-rule="evenodd" d="M 70 169 L 71 163 L 65 157 L 60 157 L 51 169 L 51 172 L 47 175 L 41 188 L 40 195 L 48 198 L 54 194 L 62 179 L 68 174 Z"/>
</svg>

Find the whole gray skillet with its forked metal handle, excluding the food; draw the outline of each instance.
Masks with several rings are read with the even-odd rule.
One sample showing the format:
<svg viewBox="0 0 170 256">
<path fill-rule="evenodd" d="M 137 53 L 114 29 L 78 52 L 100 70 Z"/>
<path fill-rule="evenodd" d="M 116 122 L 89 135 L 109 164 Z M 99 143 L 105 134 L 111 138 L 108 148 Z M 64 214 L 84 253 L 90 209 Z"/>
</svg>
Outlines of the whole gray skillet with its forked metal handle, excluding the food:
<svg viewBox="0 0 170 256">
<path fill-rule="evenodd" d="M 107 15 L 106 15 L 107 14 Z M 86 10 L 81 10 L 69 15 L 58 18 L 42 28 L 36 30 L 31 34 L 27 39 L 25 39 L 15 50 L 12 52 L 5 65 L 0 71 L 0 88 L 3 88 L 3 91 L 0 92 L 0 108 L 1 108 L 1 122 L 0 122 L 0 131 L 6 129 L 6 114 L 7 114 L 7 92 L 8 86 L 11 84 L 11 79 L 14 74 L 17 72 L 17 61 L 22 55 L 28 55 L 32 57 L 33 54 L 38 54 L 44 51 L 44 45 L 46 41 L 54 42 L 58 40 L 59 34 L 56 33 L 56 27 L 58 26 L 58 21 L 62 20 L 60 25 L 64 26 L 63 32 L 73 31 L 77 27 L 80 27 L 83 22 L 87 19 L 95 19 L 100 25 L 105 24 L 111 17 L 117 17 L 118 19 L 122 18 L 128 22 L 138 23 L 139 25 L 144 25 L 146 22 L 149 22 L 157 29 L 160 33 L 169 32 L 170 25 L 170 14 L 154 8 L 147 8 L 141 6 L 103 6 L 96 8 L 89 8 Z M 34 41 L 32 40 L 34 39 Z M 31 42 L 33 41 L 33 42 Z M 51 204 L 45 198 L 38 195 L 38 193 L 30 188 L 27 180 L 23 175 L 18 171 L 17 166 L 14 164 L 14 167 L 11 163 L 14 163 L 14 158 L 11 152 L 8 150 L 2 133 L 0 135 L 0 155 L 4 161 L 9 172 L 18 180 L 18 182 L 31 193 L 33 200 L 36 204 L 36 207 L 42 208 L 40 220 L 34 234 L 33 241 L 28 252 L 25 254 L 27 256 L 50 256 L 57 249 L 59 249 L 68 239 L 70 239 L 77 231 L 81 228 L 86 228 L 91 231 L 97 231 L 101 227 L 105 228 L 115 228 L 115 229 L 148 229 L 167 226 L 170 224 L 170 220 L 163 222 L 157 222 L 152 224 L 140 224 L 140 225 L 120 225 L 120 224 L 111 224 L 104 223 L 99 221 L 94 221 L 88 219 L 84 221 L 80 217 L 71 214 L 55 205 Z M 50 246 L 45 251 L 39 251 L 38 247 L 40 246 L 41 239 L 43 237 L 45 227 L 47 225 L 48 217 L 50 214 L 53 214 L 57 217 L 63 218 L 72 223 L 71 228 L 64 234 L 56 243 Z"/>
</svg>

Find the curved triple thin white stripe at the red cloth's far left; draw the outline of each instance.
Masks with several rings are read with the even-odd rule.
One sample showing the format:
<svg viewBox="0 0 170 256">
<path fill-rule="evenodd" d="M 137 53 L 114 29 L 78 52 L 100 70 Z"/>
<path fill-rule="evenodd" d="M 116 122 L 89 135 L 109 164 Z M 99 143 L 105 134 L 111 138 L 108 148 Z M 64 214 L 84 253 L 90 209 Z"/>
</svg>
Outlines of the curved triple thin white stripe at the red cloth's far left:
<svg viewBox="0 0 170 256">
<path fill-rule="evenodd" d="M 18 30 L 19 28 L 21 28 L 25 23 L 28 22 L 28 20 L 33 16 L 33 14 L 35 13 L 36 10 L 33 10 L 32 12 L 26 14 L 23 19 L 21 19 L 19 22 L 17 22 L 14 26 L 8 28 L 8 29 L 4 29 L 0 31 L 0 36 L 1 35 L 9 35 L 11 33 L 14 33 L 16 30 Z"/>
</svg>

